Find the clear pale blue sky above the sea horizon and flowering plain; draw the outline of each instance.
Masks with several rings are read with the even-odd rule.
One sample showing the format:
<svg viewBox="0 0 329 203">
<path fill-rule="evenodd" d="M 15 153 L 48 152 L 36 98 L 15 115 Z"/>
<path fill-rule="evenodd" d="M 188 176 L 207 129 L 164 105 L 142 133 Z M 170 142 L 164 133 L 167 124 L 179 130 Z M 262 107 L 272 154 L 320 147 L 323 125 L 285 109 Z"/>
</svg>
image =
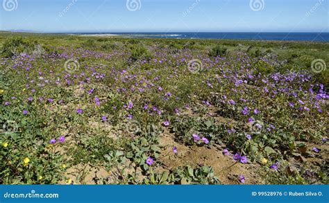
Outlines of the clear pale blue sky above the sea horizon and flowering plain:
<svg viewBox="0 0 329 203">
<path fill-rule="evenodd" d="M 329 0 L 1 1 L 0 30 L 328 32 L 329 28 Z"/>
</svg>

